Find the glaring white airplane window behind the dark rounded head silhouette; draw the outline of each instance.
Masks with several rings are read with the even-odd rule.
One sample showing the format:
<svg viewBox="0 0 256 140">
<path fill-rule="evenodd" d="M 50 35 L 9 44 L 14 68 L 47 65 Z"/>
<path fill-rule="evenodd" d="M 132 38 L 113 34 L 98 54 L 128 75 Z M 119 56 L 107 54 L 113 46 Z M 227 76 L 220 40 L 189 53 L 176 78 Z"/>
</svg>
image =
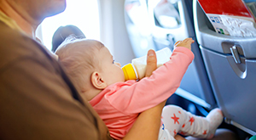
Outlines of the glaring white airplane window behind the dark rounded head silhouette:
<svg viewBox="0 0 256 140">
<path fill-rule="evenodd" d="M 41 41 L 49 48 L 52 36 L 61 25 L 76 25 L 87 38 L 100 40 L 100 23 L 97 1 L 67 0 L 66 10 L 43 21 Z"/>
</svg>

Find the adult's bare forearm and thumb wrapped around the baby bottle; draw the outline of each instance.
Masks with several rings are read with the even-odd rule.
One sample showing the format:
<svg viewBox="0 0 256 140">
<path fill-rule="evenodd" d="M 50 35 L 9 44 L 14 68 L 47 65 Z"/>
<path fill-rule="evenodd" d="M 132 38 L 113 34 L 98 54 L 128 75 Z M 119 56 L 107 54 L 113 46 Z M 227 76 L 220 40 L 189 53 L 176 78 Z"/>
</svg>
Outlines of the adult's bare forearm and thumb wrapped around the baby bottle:
<svg viewBox="0 0 256 140">
<path fill-rule="evenodd" d="M 146 76 L 151 76 L 152 72 L 156 70 L 156 55 L 154 50 L 148 51 Z M 162 109 L 165 106 L 166 101 L 158 104 L 154 108 L 145 110 L 141 113 L 134 125 L 131 127 L 130 132 L 127 133 L 124 140 L 156 140 L 158 139 L 158 133 L 160 130 L 160 118 Z"/>
</svg>

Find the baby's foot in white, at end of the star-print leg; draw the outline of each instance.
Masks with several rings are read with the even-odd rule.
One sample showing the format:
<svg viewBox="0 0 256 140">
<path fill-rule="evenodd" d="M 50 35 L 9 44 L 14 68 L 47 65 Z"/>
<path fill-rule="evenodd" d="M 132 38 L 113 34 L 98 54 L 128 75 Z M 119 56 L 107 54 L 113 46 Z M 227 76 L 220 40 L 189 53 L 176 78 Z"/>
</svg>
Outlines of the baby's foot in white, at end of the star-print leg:
<svg viewBox="0 0 256 140">
<path fill-rule="evenodd" d="M 210 130 L 208 132 L 207 138 L 212 138 L 216 132 L 218 126 L 222 123 L 224 116 L 221 109 L 212 109 L 207 115 L 207 120 L 210 122 Z"/>
</svg>

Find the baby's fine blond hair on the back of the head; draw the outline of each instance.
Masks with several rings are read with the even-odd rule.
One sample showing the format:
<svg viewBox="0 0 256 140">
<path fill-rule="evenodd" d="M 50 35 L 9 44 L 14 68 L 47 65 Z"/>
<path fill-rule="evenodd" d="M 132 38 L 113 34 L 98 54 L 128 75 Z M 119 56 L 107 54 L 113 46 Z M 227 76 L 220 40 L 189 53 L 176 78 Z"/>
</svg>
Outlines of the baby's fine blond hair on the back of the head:
<svg viewBox="0 0 256 140">
<path fill-rule="evenodd" d="M 79 92 L 90 81 L 90 75 L 100 70 L 101 62 L 96 57 L 96 51 L 103 48 L 102 42 L 91 39 L 76 39 L 68 37 L 56 50 L 56 54 Z"/>
</svg>

